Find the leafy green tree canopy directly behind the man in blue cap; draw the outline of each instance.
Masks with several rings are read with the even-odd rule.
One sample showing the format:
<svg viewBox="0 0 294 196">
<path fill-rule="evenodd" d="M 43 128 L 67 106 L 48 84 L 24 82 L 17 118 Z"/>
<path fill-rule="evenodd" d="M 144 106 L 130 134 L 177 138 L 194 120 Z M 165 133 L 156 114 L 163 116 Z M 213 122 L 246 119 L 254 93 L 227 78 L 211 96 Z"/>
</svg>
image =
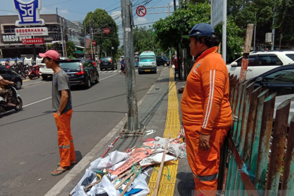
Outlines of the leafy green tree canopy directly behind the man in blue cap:
<svg viewBox="0 0 294 196">
<path fill-rule="evenodd" d="M 210 23 L 210 4 L 204 3 L 193 4 L 184 2 L 176 9 L 171 16 L 165 19 L 159 19 L 153 24 L 155 41 L 160 43 L 161 48 L 167 50 L 169 47 L 176 47 L 181 43 L 183 48 L 189 52 L 189 40 L 181 39 L 181 35 L 188 35 L 189 31 L 195 24 Z M 216 33 L 221 37 L 221 25 L 215 28 Z M 241 29 L 234 23 L 231 17 L 227 21 L 227 59 L 234 59 L 240 56 L 241 46 L 244 44 L 238 34 L 242 33 Z"/>
</svg>

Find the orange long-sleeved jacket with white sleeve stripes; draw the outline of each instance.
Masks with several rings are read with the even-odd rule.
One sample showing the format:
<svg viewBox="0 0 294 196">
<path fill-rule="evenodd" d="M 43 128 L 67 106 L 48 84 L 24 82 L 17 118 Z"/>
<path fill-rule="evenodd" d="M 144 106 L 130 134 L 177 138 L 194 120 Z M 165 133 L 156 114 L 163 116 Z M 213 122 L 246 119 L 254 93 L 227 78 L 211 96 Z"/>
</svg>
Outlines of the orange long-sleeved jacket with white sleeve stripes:
<svg viewBox="0 0 294 196">
<path fill-rule="evenodd" d="M 208 48 L 193 65 L 181 99 L 182 121 L 201 125 L 201 133 L 232 124 L 228 69 L 218 47 Z"/>
</svg>

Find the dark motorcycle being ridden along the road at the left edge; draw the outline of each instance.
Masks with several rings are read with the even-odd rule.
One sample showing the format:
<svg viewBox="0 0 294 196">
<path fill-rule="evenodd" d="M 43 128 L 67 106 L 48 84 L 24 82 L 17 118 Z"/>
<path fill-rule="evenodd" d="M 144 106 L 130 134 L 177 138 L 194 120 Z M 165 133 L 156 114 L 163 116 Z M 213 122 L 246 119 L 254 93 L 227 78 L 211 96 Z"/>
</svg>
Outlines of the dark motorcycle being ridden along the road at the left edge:
<svg viewBox="0 0 294 196">
<path fill-rule="evenodd" d="M 15 104 L 16 106 L 10 106 L 7 105 L 7 97 L 6 96 L 0 96 L 0 113 L 7 112 L 9 110 L 21 110 L 22 108 L 22 99 L 17 93 L 16 89 L 11 85 L 5 85 L 5 89 L 11 89 L 12 91 L 12 98 L 11 103 Z"/>
</svg>

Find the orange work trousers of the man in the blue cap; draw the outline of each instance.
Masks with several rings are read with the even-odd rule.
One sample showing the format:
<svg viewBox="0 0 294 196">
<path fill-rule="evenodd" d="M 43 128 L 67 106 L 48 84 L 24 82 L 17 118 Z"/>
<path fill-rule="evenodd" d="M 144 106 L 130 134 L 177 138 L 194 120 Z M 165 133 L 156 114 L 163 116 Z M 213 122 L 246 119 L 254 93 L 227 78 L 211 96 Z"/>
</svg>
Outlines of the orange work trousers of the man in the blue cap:
<svg viewBox="0 0 294 196">
<path fill-rule="evenodd" d="M 213 128 L 208 151 L 198 148 L 200 125 L 184 125 L 188 163 L 194 175 L 195 195 L 216 195 L 220 148 L 227 128 Z"/>
</svg>

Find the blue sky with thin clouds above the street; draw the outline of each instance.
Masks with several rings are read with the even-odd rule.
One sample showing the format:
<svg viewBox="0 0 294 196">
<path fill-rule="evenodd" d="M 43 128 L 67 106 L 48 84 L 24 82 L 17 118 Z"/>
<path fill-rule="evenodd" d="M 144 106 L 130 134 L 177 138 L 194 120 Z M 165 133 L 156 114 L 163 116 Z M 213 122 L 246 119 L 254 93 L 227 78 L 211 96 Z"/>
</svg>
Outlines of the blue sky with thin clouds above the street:
<svg viewBox="0 0 294 196">
<path fill-rule="evenodd" d="M 5 3 L 2 3 L 4 2 Z M 29 0 L 21 0 L 23 2 L 29 2 Z M 134 7 L 138 5 L 143 5 L 148 2 L 145 7 L 147 8 L 147 14 L 144 17 L 134 17 L 134 23 L 138 26 L 152 25 L 152 22 L 157 21 L 160 18 L 165 18 L 168 13 L 164 14 L 148 14 L 154 12 L 167 12 L 167 8 L 154 8 L 148 9 L 150 7 L 160 7 L 170 6 L 170 11 L 173 11 L 173 0 L 131 0 Z M 15 15 L 16 10 L 14 9 L 13 0 L 0 0 L 0 15 Z M 176 0 L 176 5 L 178 5 L 178 0 Z M 42 9 L 40 14 L 56 14 L 56 7 L 58 9 L 58 15 L 64 17 L 70 21 L 83 21 L 87 12 L 94 11 L 97 8 L 104 9 L 108 14 L 115 19 L 116 24 L 121 26 L 121 0 L 42 0 Z M 133 12 L 135 14 L 135 12 Z M 150 23 L 150 24 L 146 24 Z M 143 24 L 143 25 L 141 25 Z M 122 28 L 119 29 L 119 38 L 122 42 Z"/>
</svg>

